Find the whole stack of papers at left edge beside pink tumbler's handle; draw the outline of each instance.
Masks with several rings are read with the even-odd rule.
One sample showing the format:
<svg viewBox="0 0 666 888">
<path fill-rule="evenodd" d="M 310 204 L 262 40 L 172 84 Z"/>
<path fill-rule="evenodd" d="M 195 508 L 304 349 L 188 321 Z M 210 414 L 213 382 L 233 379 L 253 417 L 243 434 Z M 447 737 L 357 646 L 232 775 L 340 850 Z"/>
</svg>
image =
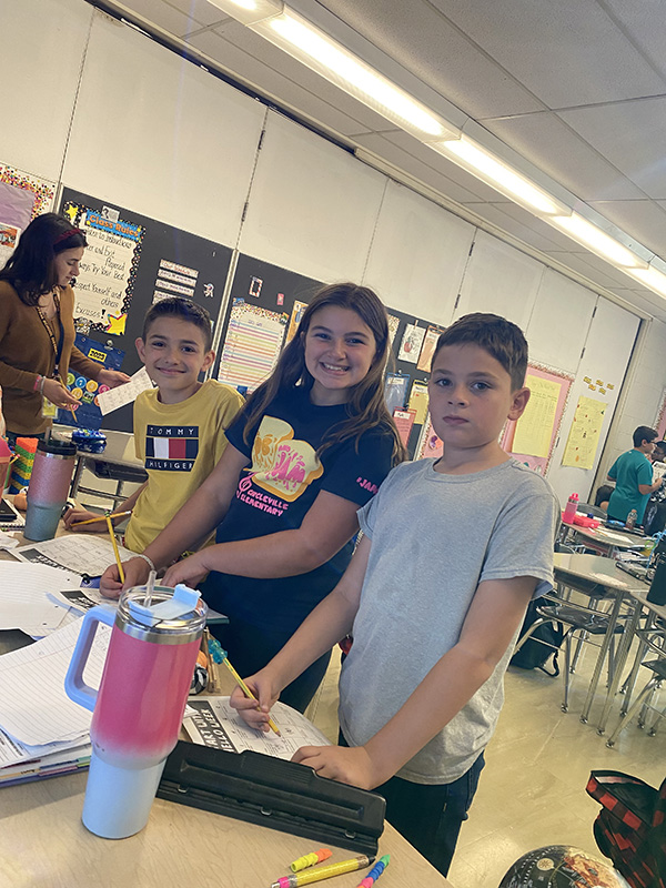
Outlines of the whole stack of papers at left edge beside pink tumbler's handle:
<svg viewBox="0 0 666 888">
<path fill-rule="evenodd" d="M 70 700 L 64 676 L 81 620 L 0 656 L 0 786 L 88 764 L 92 714 Z M 100 624 L 85 666 L 99 687 L 111 630 Z"/>
</svg>

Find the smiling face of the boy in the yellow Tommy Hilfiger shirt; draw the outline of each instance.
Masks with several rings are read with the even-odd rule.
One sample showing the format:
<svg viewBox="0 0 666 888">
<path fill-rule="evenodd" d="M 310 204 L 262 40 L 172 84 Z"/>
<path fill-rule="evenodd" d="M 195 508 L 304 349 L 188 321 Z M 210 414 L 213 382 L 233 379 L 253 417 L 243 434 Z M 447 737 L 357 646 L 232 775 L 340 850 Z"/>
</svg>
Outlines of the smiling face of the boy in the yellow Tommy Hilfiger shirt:
<svg viewBox="0 0 666 888">
<path fill-rule="evenodd" d="M 137 340 L 139 357 L 160 389 L 160 401 L 178 404 L 200 387 L 199 374 L 206 371 L 215 353 L 206 351 L 202 331 L 190 321 L 157 317 L 145 335 Z"/>
</svg>

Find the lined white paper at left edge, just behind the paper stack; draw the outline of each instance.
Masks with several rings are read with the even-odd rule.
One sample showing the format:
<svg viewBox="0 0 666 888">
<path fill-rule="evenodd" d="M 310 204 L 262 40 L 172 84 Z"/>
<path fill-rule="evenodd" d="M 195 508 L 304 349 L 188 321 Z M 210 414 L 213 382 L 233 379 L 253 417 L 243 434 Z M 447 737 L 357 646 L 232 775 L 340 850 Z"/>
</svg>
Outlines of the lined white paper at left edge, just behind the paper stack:
<svg viewBox="0 0 666 888">
<path fill-rule="evenodd" d="M 44 564 L 0 562 L 0 629 L 30 628 L 47 635 L 64 614 L 48 598 L 51 591 L 77 589 L 81 577 Z"/>
</svg>

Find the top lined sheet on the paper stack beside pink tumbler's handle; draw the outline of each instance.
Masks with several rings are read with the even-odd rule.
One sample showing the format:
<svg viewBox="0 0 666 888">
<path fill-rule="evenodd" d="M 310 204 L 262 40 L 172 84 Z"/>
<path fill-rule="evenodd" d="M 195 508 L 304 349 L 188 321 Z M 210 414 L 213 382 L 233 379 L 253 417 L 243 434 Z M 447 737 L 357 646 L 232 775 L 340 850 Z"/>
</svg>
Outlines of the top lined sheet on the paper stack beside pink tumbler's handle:
<svg viewBox="0 0 666 888">
<path fill-rule="evenodd" d="M 29 746 L 85 737 L 92 713 L 64 693 L 64 676 L 79 637 L 81 620 L 41 642 L 0 656 L 0 725 Z M 99 687 L 111 629 L 100 624 L 88 657 L 84 679 Z"/>
</svg>

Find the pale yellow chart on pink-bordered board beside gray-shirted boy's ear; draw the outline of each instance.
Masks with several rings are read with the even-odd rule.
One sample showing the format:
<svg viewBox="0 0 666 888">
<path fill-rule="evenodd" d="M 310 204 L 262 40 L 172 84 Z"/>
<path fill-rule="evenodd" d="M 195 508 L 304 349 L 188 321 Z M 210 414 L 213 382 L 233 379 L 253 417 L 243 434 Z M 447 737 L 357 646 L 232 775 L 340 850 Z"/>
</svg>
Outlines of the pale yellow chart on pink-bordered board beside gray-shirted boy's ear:
<svg viewBox="0 0 666 888">
<path fill-rule="evenodd" d="M 532 391 L 525 413 L 506 423 L 500 444 L 519 463 L 545 475 L 562 426 L 574 376 L 539 364 L 529 364 L 525 385 Z"/>
</svg>

